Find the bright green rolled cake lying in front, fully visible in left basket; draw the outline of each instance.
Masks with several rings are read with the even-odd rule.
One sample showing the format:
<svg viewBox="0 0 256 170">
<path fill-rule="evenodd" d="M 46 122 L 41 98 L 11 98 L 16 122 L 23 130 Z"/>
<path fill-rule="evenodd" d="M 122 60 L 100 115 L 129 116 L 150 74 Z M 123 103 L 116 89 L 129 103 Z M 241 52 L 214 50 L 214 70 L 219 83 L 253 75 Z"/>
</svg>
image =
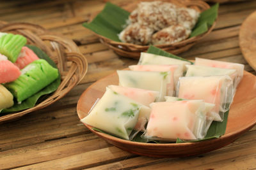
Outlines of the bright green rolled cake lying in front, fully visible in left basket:
<svg viewBox="0 0 256 170">
<path fill-rule="evenodd" d="M 12 92 L 18 103 L 21 103 L 36 92 L 40 91 L 58 78 L 58 69 L 52 67 L 46 60 L 31 62 L 21 70 L 19 78 L 4 86 Z"/>
</svg>

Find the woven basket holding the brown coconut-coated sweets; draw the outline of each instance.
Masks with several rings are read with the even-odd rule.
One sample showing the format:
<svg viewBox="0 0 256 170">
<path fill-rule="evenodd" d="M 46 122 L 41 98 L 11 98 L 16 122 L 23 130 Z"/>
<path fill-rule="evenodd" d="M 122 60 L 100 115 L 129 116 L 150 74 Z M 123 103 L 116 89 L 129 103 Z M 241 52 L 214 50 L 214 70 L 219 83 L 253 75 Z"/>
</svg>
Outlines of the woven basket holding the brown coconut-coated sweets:
<svg viewBox="0 0 256 170">
<path fill-rule="evenodd" d="M 147 0 L 147 1 L 152 1 L 152 0 Z M 163 0 L 163 1 L 166 1 L 166 0 Z M 207 10 L 210 8 L 210 6 L 207 3 L 205 3 L 204 1 L 200 1 L 200 0 L 182 0 L 182 1 L 167 0 L 167 1 L 170 3 L 177 4 L 178 6 L 186 6 L 186 7 L 198 10 L 198 11 L 204 11 L 204 10 Z M 129 1 L 127 1 L 127 2 L 129 2 Z M 140 1 L 136 1 L 134 3 L 122 4 L 122 6 L 124 6 L 125 10 L 131 12 L 132 10 L 134 10 L 136 8 L 138 3 L 140 3 Z M 191 48 L 191 46 L 195 45 L 195 43 L 197 41 L 199 41 L 200 39 L 204 38 L 207 34 L 209 34 L 212 31 L 215 24 L 216 24 L 216 22 L 214 22 L 214 24 L 208 29 L 207 32 L 205 32 L 204 34 L 201 34 L 199 36 L 185 39 L 178 43 L 167 44 L 167 45 L 156 45 L 156 46 L 158 48 L 161 48 L 161 49 L 163 49 L 167 52 L 173 53 L 173 54 L 185 52 L 186 50 Z M 114 50 L 118 55 L 121 55 L 124 57 L 131 57 L 134 59 L 138 59 L 140 57 L 140 53 L 147 51 L 147 49 L 149 47 L 149 46 L 142 46 L 142 45 L 134 45 L 131 43 L 117 42 L 117 41 L 113 41 L 109 38 L 106 38 L 104 36 L 101 36 L 99 34 L 96 34 L 95 32 L 93 32 L 93 33 L 100 38 L 101 43 L 103 43 L 104 45 L 106 45 L 109 48 L 111 48 L 112 50 Z"/>
</svg>

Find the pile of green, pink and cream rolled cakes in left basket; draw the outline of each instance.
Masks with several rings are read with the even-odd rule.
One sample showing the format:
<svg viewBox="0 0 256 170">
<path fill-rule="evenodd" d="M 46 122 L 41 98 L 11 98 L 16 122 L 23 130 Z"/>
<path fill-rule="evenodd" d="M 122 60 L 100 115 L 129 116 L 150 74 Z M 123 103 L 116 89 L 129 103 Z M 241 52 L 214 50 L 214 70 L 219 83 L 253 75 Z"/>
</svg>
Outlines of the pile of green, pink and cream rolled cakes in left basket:
<svg viewBox="0 0 256 170">
<path fill-rule="evenodd" d="M 28 99 L 58 78 L 58 69 L 39 59 L 21 35 L 0 34 L 0 112 Z"/>
</svg>

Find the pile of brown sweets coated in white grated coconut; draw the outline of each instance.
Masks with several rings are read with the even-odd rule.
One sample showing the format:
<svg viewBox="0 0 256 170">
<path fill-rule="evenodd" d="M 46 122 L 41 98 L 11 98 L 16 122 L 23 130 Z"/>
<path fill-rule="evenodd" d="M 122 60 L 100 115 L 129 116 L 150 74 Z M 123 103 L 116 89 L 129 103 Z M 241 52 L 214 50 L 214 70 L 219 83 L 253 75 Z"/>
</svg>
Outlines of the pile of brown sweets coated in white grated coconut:
<svg viewBox="0 0 256 170">
<path fill-rule="evenodd" d="M 141 2 L 129 16 L 129 25 L 119 34 L 124 43 L 164 45 L 189 37 L 199 12 L 163 1 Z"/>
</svg>

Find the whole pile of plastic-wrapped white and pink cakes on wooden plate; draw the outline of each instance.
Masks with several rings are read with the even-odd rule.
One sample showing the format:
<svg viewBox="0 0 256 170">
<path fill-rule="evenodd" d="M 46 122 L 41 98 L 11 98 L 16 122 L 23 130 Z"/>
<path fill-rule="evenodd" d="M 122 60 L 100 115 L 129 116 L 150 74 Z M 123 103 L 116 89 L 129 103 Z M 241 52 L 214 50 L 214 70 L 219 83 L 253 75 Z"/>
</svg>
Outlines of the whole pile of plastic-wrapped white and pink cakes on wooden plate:
<svg viewBox="0 0 256 170">
<path fill-rule="evenodd" d="M 129 68 L 117 71 L 120 86 L 109 85 L 81 121 L 124 139 L 142 131 L 146 139 L 173 141 L 202 139 L 212 121 L 223 121 L 244 65 L 141 53 Z"/>
</svg>

